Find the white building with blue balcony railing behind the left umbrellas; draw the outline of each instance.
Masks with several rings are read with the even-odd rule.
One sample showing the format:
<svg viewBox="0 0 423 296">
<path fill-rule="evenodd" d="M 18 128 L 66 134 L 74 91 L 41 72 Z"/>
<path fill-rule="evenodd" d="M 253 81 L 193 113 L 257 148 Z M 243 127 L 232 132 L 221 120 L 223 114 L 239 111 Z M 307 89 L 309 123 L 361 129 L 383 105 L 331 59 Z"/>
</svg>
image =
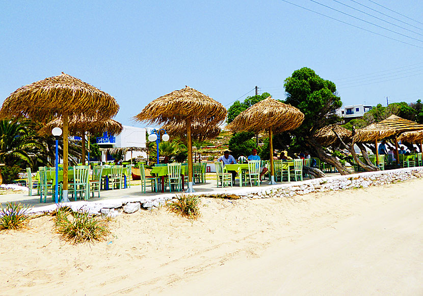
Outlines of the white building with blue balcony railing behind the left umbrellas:
<svg viewBox="0 0 423 296">
<path fill-rule="evenodd" d="M 147 128 L 138 128 L 131 126 L 123 126 L 122 132 L 115 136 L 104 132 L 102 137 L 97 137 L 97 144 L 101 148 L 115 148 L 115 147 L 146 147 L 146 132 Z M 130 159 L 131 153 L 128 152 L 124 159 Z M 147 157 L 146 152 L 134 151 L 132 157 Z M 104 151 L 101 152 L 101 161 L 107 161 L 107 155 Z"/>
</svg>

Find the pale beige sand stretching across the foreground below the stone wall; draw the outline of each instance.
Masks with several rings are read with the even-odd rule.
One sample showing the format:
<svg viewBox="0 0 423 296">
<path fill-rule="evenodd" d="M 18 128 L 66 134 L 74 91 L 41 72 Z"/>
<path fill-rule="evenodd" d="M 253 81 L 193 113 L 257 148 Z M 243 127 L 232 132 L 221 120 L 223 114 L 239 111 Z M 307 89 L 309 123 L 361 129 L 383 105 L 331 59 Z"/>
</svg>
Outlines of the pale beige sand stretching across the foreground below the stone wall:
<svg viewBox="0 0 423 296">
<path fill-rule="evenodd" d="M 204 198 L 118 216 L 69 245 L 50 217 L 0 233 L 1 295 L 421 295 L 423 180 L 297 196 Z"/>
</svg>

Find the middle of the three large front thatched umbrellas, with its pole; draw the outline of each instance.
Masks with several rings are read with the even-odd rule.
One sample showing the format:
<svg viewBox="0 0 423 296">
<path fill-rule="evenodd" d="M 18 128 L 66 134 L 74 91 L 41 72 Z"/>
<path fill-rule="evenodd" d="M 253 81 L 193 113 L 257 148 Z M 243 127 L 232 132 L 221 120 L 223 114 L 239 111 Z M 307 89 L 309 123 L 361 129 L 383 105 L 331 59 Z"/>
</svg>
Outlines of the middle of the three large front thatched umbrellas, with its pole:
<svg viewBox="0 0 423 296">
<path fill-rule="evenodd" d="M 137 121 L 151 124 L 167 124 L 183 121 L 187 126 L 188 140 L 188 191 L 192 192 L 192 123 L 217 126 L 226 118 L 227 111 L 223 105 L 194 88 L 186 86 L 182 90 L 155 99 L 135 116 Z"/>
</svg>

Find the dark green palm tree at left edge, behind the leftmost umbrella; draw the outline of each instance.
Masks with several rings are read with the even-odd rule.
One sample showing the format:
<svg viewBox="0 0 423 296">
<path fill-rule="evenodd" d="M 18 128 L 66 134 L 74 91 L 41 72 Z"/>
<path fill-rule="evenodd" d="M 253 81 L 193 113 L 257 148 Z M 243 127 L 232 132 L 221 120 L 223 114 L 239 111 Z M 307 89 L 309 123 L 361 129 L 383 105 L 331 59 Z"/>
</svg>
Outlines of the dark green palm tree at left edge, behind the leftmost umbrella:
<svg viewBox="0 0 423 296">
<path fill-rule="evenodd" d="M 37 141 L 34 131 L 26 122 L 0 121 L 0 162 L 12 166 L 33 165 L 45 146 Z"/>
</svg>

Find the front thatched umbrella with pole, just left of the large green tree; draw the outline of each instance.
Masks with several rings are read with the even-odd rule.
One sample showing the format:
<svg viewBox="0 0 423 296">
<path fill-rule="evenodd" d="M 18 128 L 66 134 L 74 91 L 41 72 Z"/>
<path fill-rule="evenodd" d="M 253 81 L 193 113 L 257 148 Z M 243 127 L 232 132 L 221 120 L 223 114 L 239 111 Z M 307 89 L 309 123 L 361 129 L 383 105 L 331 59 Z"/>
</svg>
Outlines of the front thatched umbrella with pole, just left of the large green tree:
<svg viewBox="0 0 423 296">
<path fill-rule="evenodd" d="M 270 147 L 270 170 L 271 184 L 276 184 L 274 180 L 273 166 L 273 132 L 294 130 L 298 128 L 304 120 L 304 114 L 297 108 L 279 102 L 272 97 L 268 97 L 250 108 L 242 111 L 227 126 L 233 132 L 249 131 L 258 134 L 260 131 L 268 130 Z"/>
</svg>

